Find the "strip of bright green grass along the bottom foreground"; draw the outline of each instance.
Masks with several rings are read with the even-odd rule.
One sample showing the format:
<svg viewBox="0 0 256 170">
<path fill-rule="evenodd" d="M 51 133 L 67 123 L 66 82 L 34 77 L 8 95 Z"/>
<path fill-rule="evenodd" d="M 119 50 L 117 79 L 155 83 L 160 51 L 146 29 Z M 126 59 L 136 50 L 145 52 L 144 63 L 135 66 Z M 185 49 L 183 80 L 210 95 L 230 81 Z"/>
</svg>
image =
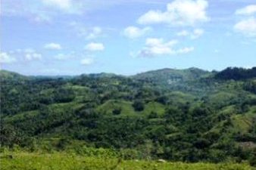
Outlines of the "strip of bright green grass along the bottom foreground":
<svg viewBox="0 0 256 170">
<path fill-rule="evenodd" d="M 247 164 L 132 161 L 77 156 L 67 153 L 1 153 L 1 170 L 252 170 Z"/>
</svg>

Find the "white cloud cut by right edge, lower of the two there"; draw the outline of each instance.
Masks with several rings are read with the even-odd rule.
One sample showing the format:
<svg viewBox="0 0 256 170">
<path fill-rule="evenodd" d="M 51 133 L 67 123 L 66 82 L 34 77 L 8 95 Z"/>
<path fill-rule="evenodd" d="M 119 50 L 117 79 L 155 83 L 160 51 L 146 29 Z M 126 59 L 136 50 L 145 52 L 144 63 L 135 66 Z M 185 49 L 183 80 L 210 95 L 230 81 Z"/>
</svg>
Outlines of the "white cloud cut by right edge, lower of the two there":
<svg viewBox="0 0 256 170">
<path fill-rule="evenodd" d="M 239 21 L 234 26 L 236 32 L 240 32 L 245 36 L 248 37 L 255 37 L 256 36 L 256 18 L 250 17 L 245 20 Z"/>
</svg>

